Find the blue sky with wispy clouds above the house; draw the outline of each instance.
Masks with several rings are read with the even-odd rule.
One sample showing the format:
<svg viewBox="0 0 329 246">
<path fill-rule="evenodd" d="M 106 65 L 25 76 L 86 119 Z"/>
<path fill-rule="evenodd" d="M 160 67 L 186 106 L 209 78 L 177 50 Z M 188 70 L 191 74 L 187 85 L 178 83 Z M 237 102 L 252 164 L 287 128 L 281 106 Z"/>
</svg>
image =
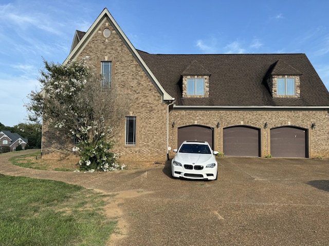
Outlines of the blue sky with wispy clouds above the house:
<svg viewBox="0 0 329 246">
<path fill-rule="evenodd" d="M 104 8 L 136 49 L 162 54 L 305 53 L 329 88 L 327 0 L 0 0 L 0 122 L 25 122 L 43 57 L 62 63 Z M 1 129 L 0 129 L 1 130 Z"/>
</svg>

